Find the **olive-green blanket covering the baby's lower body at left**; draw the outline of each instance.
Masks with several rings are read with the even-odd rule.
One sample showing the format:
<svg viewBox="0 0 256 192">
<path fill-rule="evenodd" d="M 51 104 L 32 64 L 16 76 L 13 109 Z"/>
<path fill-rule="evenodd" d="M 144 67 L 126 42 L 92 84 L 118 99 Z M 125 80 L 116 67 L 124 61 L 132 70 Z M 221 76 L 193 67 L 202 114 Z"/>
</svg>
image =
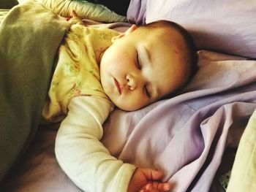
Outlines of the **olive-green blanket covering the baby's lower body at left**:
<svg viewBox="0 0 256 192">
<path fill-rule="evenodd" d="M 33 139 L 64 18 L 36 1 L 13 7 L 0 25 L 0 181 Z"/>
</svg>

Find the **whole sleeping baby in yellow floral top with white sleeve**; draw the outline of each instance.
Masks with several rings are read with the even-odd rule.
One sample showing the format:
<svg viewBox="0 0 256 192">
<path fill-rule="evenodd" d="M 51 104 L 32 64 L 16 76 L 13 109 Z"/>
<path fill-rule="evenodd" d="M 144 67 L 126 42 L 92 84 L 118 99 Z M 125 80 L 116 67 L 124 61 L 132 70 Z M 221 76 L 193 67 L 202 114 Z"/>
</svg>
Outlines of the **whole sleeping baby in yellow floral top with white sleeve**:
<svg viewBox="0 0 256 192">
<path fill-rule="evenodd" d="M 183 88 L 196 69 L 192 38 L 165 20 L 119 34 L 73 16 L 42 113 L 62 121 L 56 137 L 61 168 L 83 191 L 170 191 L 171 183 L 159 181 L 161 171 L 111 156 L 100 142 L 102 123 L 114 106 L 139 110 Z"/>
</svg>

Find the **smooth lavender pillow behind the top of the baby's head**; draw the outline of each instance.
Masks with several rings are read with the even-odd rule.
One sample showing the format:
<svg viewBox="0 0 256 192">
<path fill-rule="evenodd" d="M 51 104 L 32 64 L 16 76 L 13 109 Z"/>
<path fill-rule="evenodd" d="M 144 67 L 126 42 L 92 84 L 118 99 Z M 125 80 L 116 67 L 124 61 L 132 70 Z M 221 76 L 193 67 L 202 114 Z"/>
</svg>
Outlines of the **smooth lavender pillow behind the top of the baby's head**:
<svg viewBox="0 0 256 192">
<path fill-rule="evenodd" d="M 127 19 L 172 20 L 187 28 L 200 49 L 256 58 L 254 1 L 131 0 Z"/>
</svg>

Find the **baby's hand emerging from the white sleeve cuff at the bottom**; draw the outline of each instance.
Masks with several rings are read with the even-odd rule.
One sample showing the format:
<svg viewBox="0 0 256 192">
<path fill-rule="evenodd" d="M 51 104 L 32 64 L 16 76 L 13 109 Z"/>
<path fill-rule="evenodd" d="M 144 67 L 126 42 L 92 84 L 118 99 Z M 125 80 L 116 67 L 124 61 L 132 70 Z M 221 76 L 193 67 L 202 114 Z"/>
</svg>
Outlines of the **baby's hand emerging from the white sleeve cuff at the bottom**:
<svg viewBox="0 0 256 192">
<path fill-rule="evenodd" d="M 136 169 L 129 182 L 128 192 L 166 192 L 173 188 L 170 183 L 159 182 L 163 173 L 153 169 Z"/>
</svg>

